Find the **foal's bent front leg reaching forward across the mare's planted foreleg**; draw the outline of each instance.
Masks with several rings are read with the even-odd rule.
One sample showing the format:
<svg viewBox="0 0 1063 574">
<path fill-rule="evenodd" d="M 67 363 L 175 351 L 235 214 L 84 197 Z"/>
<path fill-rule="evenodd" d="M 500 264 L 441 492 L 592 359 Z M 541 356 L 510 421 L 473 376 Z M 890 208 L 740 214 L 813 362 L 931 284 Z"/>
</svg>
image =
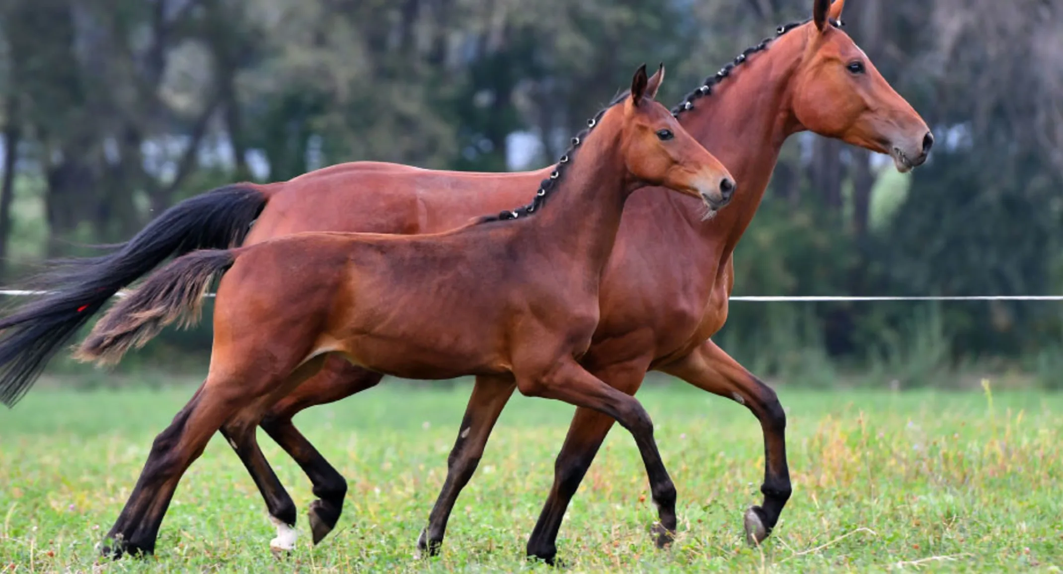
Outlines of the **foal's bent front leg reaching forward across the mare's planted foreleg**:
<svg viewBox="0 0 1063 574">
<path fill-rule="evenodd" d="M 572 359 L 564 360 L 545 375 L 534 378 L 518 375 L 517 385 L 521 392 L 527 395 L 557 399 L 601 412 L 615 420 L 631 433 L 635 443 L 639 448 L 639 454 L 642 455 L 642 462 L 646 468 L 651 495 L 654 504 L 657 505 L 660 519 L 660 524 L 656 527 L 657 543 L 664 545 L 671 541 L 676 527 L 675 485 L 672 484 L 668 470 L 661 461 L 657 442 L 654 440 L 654 425 L 642 404 L 634 396 L 606 385 Z M 597 441 L 597 444 L 601 444 L 601 440 Z M 594 449 L 596 451 L 597 446 Z M 584 472 L 586 472 L 586 468 Z M 563 511 L 561 513 L 563 514 Z M 556 520 L 560 521 L 559 518 Z M 538 526 L 537 530 L 539 530 Z M 550 542 L 553 543 L 553 540 Z M 533 556 L 541 557 L 553 563 L 555 548 L 534 547 L 532 542 L 528 543 L 528 547 L 529 554 Z"/>
</svg>

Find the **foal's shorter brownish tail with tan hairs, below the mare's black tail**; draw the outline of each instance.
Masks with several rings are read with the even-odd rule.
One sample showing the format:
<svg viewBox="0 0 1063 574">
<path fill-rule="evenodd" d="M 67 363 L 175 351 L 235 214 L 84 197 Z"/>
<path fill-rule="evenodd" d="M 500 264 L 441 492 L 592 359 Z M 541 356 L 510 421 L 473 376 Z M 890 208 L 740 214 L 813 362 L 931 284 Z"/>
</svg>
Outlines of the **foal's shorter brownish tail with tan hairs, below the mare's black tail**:
<svg viewBox="0 0 1063 574">
<path fill-rule="evenodd" d="M 174 321 L 180 320 L 182 327 L 195 325 L 212 281 L 235 260 L 236 255 L 226 250 L 195 251 L 178 257 L 112 306 L 74 352 L 74 358 L 113 365 Z"/>
</svg>

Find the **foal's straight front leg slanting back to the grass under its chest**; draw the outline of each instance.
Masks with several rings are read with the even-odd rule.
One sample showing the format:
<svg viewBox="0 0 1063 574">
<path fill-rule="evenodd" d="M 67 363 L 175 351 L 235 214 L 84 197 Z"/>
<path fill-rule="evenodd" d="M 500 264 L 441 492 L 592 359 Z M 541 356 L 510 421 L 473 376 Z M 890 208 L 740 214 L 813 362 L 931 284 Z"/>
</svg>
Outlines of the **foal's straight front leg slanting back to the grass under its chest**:
<svg viewBox="0 0 1063 574">
<path fill-rule="evenodd" d="M 458 494 L 476 472 L 491 429 L 516 388 L 517 385 L 509 377 L 476 377 L 472 396 L 469 398 L 469 405 L 461 419 L 458 438 L 446 459 L 446 479 L 432 508 L 428 527 L 421 530 L 421 536 L 417 539 L 418 555 L 435 556 L 439 553 L 446 531 L 446 521 Z"/>
</svg>

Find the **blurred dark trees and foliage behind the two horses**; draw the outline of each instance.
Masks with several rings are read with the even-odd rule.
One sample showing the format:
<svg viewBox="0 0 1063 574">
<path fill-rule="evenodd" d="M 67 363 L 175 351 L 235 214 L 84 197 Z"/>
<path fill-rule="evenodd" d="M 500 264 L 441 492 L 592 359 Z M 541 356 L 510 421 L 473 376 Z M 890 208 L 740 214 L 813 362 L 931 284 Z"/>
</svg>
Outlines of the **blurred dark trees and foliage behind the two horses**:
<svg viewBox="0 0 1063 574">
<path fill-rule="evenodd" d="M 3 0 L 3 283 L 234 181 L 359 159 L 541 167 L 639 64 L 668 65 L 658 99 L 675 104 L 811 5 Z M 850 0 L 844 19 L 938 145 L 900 175 L 791 138 L 738 248 L 736 294 L 1063 293 L 1063 6 Z M 205 369 L 209 336 L 170 330 L 122 369 Z M 1058 302 L 737 302 L 715 338 L 772 382 L 894 388 L 991 373 L 1063 388 L 1061 339 Z"/>
</svg>

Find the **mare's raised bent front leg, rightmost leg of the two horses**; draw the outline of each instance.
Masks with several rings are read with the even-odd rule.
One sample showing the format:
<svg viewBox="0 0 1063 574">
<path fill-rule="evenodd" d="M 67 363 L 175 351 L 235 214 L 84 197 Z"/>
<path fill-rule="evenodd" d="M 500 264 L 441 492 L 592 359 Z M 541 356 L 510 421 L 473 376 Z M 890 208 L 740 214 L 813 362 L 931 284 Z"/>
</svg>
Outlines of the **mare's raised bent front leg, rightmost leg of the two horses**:
<svg viewBox="0 0 1063 574">
<path fill-rule="evenodd" d="M 660 370 L 745 405 L 760 421 L 764 434 L 764 483 L 760 491 L 764 500 L 744 517 L 746 540 L 760 544 L 778 523 L 792 491 L 787 467 L 787 415 L 778 396 L 711 340 Z"/>
</svg>

